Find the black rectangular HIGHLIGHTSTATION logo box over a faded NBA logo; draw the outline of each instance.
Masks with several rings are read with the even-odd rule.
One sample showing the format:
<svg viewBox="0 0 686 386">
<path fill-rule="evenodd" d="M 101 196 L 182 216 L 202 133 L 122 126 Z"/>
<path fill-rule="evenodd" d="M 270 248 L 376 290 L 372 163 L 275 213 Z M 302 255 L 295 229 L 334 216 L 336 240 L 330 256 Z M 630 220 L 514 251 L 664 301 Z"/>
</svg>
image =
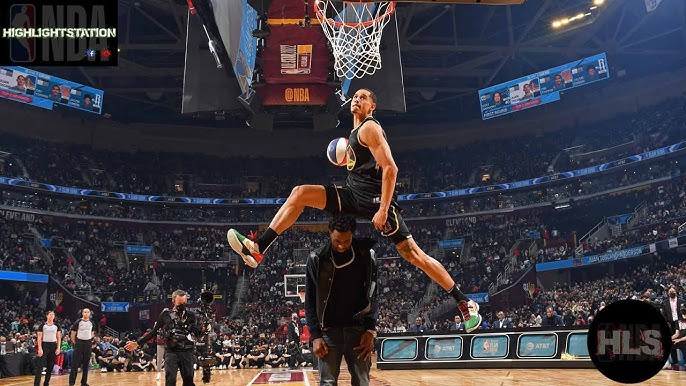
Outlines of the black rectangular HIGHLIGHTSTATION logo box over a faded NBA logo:
<svg viewBox="0 0 686 386">
<path fill-rule="evenodd" d="M 0 64 L 116 66 L 115 0 L 3 0 Z"/>
</svg>

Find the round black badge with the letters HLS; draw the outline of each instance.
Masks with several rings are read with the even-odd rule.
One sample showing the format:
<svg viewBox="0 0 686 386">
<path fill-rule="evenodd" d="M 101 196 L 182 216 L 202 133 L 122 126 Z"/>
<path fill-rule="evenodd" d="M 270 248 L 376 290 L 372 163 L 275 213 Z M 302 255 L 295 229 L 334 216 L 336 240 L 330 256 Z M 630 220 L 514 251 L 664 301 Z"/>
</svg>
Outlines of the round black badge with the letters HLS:
<svg viewBox="0 0 686 386">
<path fill-rule="evenodd" d="M 662 313 L 650 303 L 620 300 L 595 316 L 588 353 L 607 378 L 639 383 L 660 372 L 672 350 L 671 335 Z"/>
</svg>

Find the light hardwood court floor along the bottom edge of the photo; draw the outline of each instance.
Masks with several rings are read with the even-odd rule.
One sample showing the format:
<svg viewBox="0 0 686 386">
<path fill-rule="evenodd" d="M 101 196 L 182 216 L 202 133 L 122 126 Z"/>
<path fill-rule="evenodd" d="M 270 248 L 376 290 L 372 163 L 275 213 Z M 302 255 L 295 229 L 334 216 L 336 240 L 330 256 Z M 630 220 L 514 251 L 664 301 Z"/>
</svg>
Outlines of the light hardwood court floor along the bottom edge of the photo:
<svg viewBox="0 0 686 386">
<path fill-rule="evenodd" d="M 278 370 L 275 370 L 278 371 Z M 350 377 L 344 376 L 345 369 L 341 371 L 340 386 L 350 385 Z M 212 373 L 212 382 L 207 386 L 236 385 L 244 386 L 256 378 L 260 370 L 216 370 Z M 288 382 L 287 385 L 310 385 L 315 386 L 315 373 L 305 371 L 306 382 Z M 203 385 L 201 372 L 195 372 L 195 384 Z M 347 375 L 347 374 L 346 374 Z M 384 370 L 374 368 L 372 370 L 372 382 L 370 386 L 609 386 L 621 385 L 611 382 L 602 374 L 592 369 L 574 370 Z M 81 381 L 81 374 L 77 378 L 77 385 Z M 154 373 L 89 373 L 88 383 L 91 386 L 162 386 L 162 381 L 155 381 Z M 53 377 L 51 386 L 68 386 L 68 376 Z M 261 383 L 276 385 L 276 383 Z M 0 385 L 31 386 L 33 377 L 17 377 L 0 379 Z M 181 386 L 181 378 L 177 385 Z M 255 383 L 257 385 L 257 383 Z M 281 386 L 286 383 L 281 382 Z M 686 372 L 663 370 L 653 379 L 642 383 L 648 386 L 672 386 L 686 385 Z"/>
</svg>

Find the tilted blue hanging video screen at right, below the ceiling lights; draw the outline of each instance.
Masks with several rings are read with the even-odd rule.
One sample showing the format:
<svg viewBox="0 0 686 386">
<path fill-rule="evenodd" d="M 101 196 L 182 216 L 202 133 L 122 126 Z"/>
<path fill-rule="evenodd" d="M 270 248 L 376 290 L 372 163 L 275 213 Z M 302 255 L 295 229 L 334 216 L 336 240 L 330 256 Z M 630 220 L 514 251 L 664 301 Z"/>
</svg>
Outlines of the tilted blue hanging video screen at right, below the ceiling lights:
<svg viewBox="0 0 686 386">
<path fill-rule="evenodd" d="M 608 68 L 603 52 L 479 90 L 481 118 L 491 119 L 559 101 L 562 91 L 609 79 Z"/>
</svg>

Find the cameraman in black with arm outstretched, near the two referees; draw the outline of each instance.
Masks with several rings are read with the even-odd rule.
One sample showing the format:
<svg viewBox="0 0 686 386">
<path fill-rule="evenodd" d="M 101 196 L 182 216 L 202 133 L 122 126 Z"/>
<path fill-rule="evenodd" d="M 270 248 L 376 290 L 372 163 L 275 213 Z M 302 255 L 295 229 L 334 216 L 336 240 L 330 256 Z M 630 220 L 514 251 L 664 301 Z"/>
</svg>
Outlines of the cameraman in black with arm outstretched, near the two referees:
<svg viewBox="0 0 686 386">
<path fill-rule="evenodd" d="M 183 290 L 172 293 L 172 309 L 165 308 L 157 318 L 152 330 L 140 339 L 127 342 L 125 348 L 133 351 L 138 346 L 156 337 L 165 338 L 164 377 L 166 386 L 176 385 L 176 374 L 181 371 L 183 386 L 195 386 L 193 383 L 193 360 L 195 350 L 194 336 L 200 336 L 200 327 L 196 323 L 195 313 L 186 309 L 188 295 Z"/>
</svg>

